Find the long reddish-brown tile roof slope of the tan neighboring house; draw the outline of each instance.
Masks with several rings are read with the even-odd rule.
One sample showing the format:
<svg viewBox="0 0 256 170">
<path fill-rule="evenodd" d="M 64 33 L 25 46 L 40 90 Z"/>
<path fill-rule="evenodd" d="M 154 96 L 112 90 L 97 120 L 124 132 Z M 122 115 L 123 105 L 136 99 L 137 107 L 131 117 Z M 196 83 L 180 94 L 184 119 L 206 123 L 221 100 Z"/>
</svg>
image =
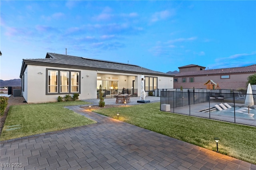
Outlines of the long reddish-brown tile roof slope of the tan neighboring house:
<svg viewBox="0 0 256 170">
<path fill-rule="evenodd" d="M 225 69 L 209 69 L 199 71 L 184 71 L 182 73 L 175 74 L 175 77 L 180 76 L 192 76 L 192 75 L 214 75 L 214 74 L 236 74 L 236 73 L 256 73 L 256 64 L 246 67 L 232 67 Z"/>
</svg>

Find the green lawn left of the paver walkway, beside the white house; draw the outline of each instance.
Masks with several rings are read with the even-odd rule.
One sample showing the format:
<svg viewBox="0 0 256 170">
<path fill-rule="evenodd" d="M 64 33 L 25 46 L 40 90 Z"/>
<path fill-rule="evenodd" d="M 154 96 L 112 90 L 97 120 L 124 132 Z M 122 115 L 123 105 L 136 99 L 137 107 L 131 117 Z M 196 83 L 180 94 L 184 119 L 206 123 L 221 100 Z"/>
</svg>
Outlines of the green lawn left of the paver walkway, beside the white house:
<svg viewBox="0 0 256 170">
<path fill-rule="evenodd" d="M 85 104 L 88 103 L 70 101 L 11 106 L 2 129 L 1 140 L 96 123 L 96 121 L 63 107 Z M 12 125 L 19 125 L 17 127 L 21 128 L 7 131 L 7 129 L 10 129 L 8 126 Z"/>
</svg>

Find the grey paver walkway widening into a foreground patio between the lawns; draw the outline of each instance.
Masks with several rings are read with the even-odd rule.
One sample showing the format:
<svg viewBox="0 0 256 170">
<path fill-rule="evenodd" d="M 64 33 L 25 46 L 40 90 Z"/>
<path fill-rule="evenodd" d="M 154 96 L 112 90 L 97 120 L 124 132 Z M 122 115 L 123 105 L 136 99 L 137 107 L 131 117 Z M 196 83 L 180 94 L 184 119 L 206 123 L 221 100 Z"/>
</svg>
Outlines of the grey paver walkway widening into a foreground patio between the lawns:
<svg viewBox="0 0 256 170">
<path fill-rule="evenodd" d="M 77 106 L 68 109 L 98 123 L 2 141 L 1 169 L 256 170 L 254 164 Z M 12 168 L 19 164 L 22 168 Z"/>
</svg>

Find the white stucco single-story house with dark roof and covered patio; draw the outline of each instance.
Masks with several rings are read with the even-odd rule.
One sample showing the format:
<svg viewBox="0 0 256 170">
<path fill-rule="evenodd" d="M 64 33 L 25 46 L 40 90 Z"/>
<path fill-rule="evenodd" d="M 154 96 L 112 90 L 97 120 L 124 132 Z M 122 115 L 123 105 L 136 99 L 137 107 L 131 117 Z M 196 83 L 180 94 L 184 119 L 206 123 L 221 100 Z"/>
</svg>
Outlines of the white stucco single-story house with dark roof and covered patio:
<svg viewBox="0 0 256 170">
<path fill-rule="evenodd" d="M 96 99 L 99 86 L 105 95 L 140 96 L 141 75 L 145 91 L 172 89 L 173 77 L 138 65 L 47 53 L 44 59 L 23 59 L 22 93 L 28 103 L 57 101 L 58 96 L 79 93 L 79 99 Z"/>
</svg>

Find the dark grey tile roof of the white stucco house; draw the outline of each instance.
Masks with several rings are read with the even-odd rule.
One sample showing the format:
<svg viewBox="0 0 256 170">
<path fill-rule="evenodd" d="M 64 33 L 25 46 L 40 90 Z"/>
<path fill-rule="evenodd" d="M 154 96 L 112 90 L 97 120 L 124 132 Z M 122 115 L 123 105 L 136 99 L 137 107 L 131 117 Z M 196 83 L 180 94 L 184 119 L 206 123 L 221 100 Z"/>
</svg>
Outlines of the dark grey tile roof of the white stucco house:
<svg viewBox="0 0 256 170">
<path fill-rule="evenodd" d="M 98 71 L 111 71 L 111 72 L 118 72 L 118 73 L 135 73 L 135 74 L 148 74 L 148 75 L 159 75 L 159 76 L 165 76 L 165 77 L 174 77 L 174 75 L 162 73 L 160 71 L 153 71 L 150 69 L 146 69 L 144 67 L 140 67 L 138 65 L 118 63 L 118 62 L 98 60 L 98 59 L 90 59 L 90 58 L 56 54 L 56 53 L 47 53 L 46 58 L 42 58 L 42 59 L 23 59 L 23 64 L 22 64 L 23 68 L 26 67 L 26 63 L 31 65 L 46 65 L 46 66 L 55 66 L 55 67 L 98 70 Z M 22 70 L 21 70 L 21 75 L 22 75 Z"/>
</svg>

